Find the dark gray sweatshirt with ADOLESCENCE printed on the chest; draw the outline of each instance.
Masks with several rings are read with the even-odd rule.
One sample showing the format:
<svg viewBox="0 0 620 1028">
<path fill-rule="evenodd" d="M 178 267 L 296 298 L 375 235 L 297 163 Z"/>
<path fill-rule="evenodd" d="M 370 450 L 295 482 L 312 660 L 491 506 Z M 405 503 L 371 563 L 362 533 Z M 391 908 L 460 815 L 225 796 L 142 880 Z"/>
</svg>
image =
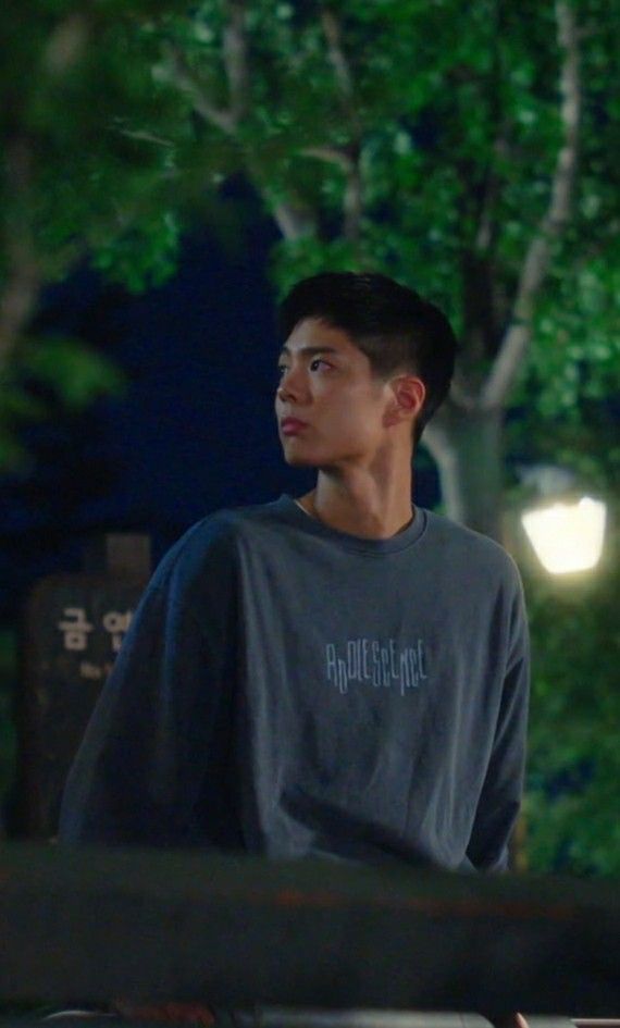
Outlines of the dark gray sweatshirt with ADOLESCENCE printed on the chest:
<svg viewBox="0 0 620 1028">
<path fill-rule="evenodd" d="M 74 761 L 66 842 L 501 869 L 523 783 L 516 565 L 417 508 L 388 540 L 288 495 L 169 550 Z"/>
</svg>

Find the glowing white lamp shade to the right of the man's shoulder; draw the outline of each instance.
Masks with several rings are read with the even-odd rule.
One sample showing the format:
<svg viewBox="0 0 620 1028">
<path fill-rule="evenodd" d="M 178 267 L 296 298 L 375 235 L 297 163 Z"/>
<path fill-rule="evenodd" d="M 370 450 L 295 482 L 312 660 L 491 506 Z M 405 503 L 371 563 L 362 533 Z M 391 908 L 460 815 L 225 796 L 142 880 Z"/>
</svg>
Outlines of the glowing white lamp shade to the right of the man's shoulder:
<svg viewBox="0 0 620 1028">
<path fill-rule="evenodd" d="M 598 563 L 606 512 L 604 503 L 583 496 L 578 503 L 526 511 L 521 520 L 543 567 L 553 574 L 566 574 Z"/>
</svg>

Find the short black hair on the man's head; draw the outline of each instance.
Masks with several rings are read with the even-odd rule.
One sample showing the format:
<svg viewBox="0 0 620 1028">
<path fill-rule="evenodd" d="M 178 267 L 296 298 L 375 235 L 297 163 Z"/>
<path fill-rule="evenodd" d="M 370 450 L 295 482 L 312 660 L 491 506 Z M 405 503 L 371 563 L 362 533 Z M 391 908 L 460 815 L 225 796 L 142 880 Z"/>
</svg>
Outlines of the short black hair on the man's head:
<svg viewBox="0 0 620 1028">
<path fill-rule="evenodd" d="M 307 318 L 346 332 L 377 377 L 405 370 L 422 380 L 426 398 L 413 424 L 417 445 L 448 395 L 455 371 L 458 344 L 439 308 L 387 275 L 327 271 L 302 278 L 280 305 L 282 342 Z"/>
</svg>

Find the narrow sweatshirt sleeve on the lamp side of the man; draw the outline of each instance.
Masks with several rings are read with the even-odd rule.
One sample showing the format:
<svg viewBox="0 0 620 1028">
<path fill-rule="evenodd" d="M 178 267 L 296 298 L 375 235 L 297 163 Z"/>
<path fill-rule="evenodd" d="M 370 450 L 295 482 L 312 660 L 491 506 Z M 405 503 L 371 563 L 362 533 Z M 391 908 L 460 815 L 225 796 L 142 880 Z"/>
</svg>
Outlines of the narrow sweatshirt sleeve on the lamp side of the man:
<svg viewBox="0 0 620 1028">
<path fill-rule="evenodd" d="M 478 870 L 508 868 L 508 843 L 519 815 L 525 771 L 530 637 L 523 587 L 516 572 L 506 673 L 491 757 L 467 856 Z"/>
</svg>

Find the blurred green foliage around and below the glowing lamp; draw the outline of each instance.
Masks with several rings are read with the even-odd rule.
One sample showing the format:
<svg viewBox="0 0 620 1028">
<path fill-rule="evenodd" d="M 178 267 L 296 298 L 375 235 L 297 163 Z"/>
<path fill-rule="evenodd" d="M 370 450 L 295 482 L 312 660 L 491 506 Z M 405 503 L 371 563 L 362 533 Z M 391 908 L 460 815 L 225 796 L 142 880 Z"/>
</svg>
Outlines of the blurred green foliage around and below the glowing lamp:
<svg viewBox="0 0 620 1028">
<path fill-rule="evenodd" d="M 617 412 L 583 401 L 583 421 L 538 418 L 510 432 L 520 456 L 572 468 L 608 504 L 593 572 L 551 577 L 516 532 L 532 640 L 532 697 L 522 866 L 535 872 L 620 874 L 620 473 Z M 524 438 L 528 436 L 528 438 Z M 506 501 L 530 497 L 508 480 Z"/>
</svg>

